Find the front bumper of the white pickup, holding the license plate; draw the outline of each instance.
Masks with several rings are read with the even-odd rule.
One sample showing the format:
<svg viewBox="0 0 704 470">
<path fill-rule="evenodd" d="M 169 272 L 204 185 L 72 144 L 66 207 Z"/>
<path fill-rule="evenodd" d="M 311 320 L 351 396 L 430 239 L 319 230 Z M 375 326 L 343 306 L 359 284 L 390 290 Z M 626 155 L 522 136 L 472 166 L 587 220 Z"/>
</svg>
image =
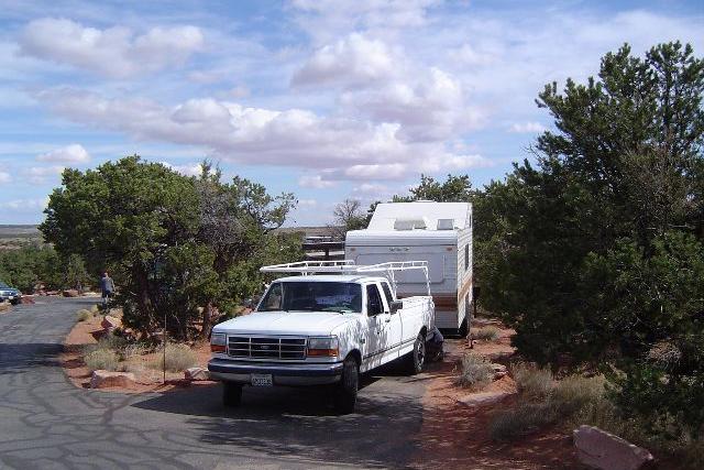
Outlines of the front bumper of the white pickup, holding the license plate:
<svg viewBox="0 0 704 470">
<path fill-rule="evenodd" d="M 212 379 L 242 384 L 251 383 L 252 374 L 271 374 L 274 385 L 326 385 L 340 381 L 342 362 L 282 364 L 211 359 L 208 371 Z"/>
</svg>

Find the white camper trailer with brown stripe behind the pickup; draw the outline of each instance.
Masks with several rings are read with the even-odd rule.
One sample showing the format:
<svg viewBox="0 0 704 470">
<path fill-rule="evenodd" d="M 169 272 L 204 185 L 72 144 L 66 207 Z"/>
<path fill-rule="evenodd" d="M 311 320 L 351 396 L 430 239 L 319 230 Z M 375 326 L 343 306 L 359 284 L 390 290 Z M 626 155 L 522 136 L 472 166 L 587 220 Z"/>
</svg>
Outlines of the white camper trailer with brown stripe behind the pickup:
<svg viewBox="0 0 704 470">
<path fill-rule="evenodd" d="M 366 230 L 348 232 L 344 254 L 356 264 L 427 261 L 436 326 L 466 334 L 472 304 L 471 204 L 380 204 Z M 426 280 L 420 277 L 414 272 L 400 273 L 397 295 L 425 293 Z"/>
</svg>

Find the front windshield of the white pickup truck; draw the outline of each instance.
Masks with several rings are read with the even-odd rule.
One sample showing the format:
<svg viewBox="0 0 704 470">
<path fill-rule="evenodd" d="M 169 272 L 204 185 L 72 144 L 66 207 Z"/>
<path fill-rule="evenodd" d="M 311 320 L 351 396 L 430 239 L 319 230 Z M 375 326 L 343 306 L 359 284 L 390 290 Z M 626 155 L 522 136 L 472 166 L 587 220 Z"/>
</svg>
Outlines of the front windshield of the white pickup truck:
<svg viewBox="0 0 704 470">
<path fill-rule="evenodd" d="M 295 281 L 272 284 L 257 311 L 362 311 L 362 287 L 354 283 Z"/>
</svg>

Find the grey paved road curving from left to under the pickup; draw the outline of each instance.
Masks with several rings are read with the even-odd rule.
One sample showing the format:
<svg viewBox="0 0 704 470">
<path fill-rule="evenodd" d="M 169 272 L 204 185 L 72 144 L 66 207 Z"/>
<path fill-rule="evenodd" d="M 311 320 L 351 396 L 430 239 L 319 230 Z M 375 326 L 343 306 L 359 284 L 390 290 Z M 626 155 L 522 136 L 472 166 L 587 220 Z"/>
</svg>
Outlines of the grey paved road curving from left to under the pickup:
<svg viewBox="0 0 704 470">
<path fill-rule="evenodd" d="M 78 390 L 57 357 L 89 305 L 45 298 L 0 315 L 0 467 L 399 468 L 416 451 L 418 379 L 371 378 L 348 416 L 296 389 L 245 389 L 233 411 L 216 385 L 140 396 Z"/>
</svg>

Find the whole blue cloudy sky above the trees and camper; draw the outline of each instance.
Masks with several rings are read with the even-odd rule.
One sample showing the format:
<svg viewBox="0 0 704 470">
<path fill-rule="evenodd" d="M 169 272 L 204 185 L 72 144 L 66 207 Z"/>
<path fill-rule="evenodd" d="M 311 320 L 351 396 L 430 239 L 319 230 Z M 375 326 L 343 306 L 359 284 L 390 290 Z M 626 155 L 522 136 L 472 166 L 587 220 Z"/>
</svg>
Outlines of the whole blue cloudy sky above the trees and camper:
<svg viewBox="0 0 704 470">
<path fill-rule="evenodd" d="M 299 199 L 475 186 L 530 157 L 546 83 L 624 42 L 704 48 L 700 1 L 0 0 L 0 223 L 42 220 L 64 167 L 204 157 Z"/>
</svg>

